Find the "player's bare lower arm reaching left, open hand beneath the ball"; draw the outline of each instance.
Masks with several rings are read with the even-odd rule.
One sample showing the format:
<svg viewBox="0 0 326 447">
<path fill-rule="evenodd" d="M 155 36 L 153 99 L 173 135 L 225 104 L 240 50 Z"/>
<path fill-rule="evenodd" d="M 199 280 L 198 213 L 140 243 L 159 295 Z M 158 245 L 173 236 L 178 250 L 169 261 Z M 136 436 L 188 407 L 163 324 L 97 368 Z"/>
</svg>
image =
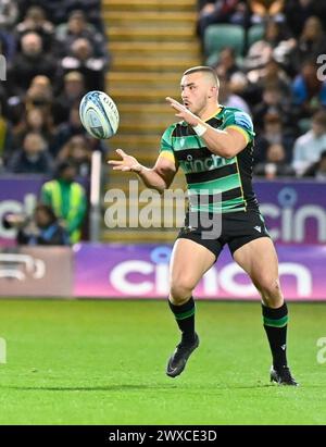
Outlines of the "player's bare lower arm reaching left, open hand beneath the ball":
<svg viewBox="0 0 326 447">
<path fill-rule="evenodd" d="M 164 153 L 160 153 L 151 169 L 143 166 L 135 157 L 128 156 L 122 149 L 116 149 L 116 153 L 121 156 L 122 160 L 109 161 L 109 164 L 113 165 L 113 170 L 136 172 L 148 188 L 156 189 L 159 193 L 163 193 L 170 187 L 177 172 L 175 161 L 164 157 Z"/>
</svg>

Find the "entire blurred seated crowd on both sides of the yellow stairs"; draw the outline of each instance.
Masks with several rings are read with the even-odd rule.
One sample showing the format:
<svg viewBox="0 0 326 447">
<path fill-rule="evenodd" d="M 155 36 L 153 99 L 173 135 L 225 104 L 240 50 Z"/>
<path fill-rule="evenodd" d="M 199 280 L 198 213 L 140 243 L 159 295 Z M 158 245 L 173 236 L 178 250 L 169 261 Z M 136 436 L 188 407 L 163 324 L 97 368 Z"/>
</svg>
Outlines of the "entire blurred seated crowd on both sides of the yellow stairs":
<svg viewBox="0 0 326 447">
<path fill-rule="evenodd" d="M 91 151 L 105 150 L 78 116 L 80 98 L 105 88 L 110 66 L 100 3 L 0 0 L 8 61 L 0 84 L 2 172 L 53 174 L 55 163 L 70 160 L 88 176 Z M 325 178 L 326 82 L 317 77 L 317 58 L 326 54 L 325 2 L 198 0 L 198 8 L 197 29 L 221 78 L 221 103 L 253 117 L 255 174 Z M 229 46 L 209 54 L 208 30 L 224 24 L 231 25 Z M 238 27 L 244 30 L 240 53 L 233 47 Z"/>
</svg>

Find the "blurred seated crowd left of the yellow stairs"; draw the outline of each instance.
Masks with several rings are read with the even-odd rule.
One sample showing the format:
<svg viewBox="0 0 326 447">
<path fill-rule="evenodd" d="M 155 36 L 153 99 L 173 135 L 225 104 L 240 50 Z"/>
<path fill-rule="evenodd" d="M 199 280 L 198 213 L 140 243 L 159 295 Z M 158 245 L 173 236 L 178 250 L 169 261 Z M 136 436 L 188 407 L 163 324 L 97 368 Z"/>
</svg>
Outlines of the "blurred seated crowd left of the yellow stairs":
<svg viewBox="0 0 326 447">
<path fill-rule="evenodd" d="M 0 172 L 54 174 L 71 161 L 88 176 L 95 149 L 80 124 L 88 90 L 104 89 L 110 58 L 100 0 L 0 0 Z"/>
</svg>

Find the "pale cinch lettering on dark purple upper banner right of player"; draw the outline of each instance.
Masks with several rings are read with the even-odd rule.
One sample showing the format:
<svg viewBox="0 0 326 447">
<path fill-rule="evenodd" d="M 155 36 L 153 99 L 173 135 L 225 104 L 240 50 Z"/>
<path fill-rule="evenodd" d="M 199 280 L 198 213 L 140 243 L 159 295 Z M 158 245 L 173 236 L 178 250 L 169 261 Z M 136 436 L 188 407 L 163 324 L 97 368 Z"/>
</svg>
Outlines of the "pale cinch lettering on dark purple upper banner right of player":
<svg viewBox="0 0 326 447">
<path fill-rule="evenodd" d="M 317 224 L 316 243 L 326 243 L 326 211 L 318 204 L 304 204 L 294 208 L 298 194 L 294 188 L 283 188 L 278 194 L 279 206 L 262 203 L 261 211 L 268 219 L 268 233 L 274 240 L 304 243 L 312 221 Z M 271 223 L 278 220 L 278 224 Z"/>
</svg>

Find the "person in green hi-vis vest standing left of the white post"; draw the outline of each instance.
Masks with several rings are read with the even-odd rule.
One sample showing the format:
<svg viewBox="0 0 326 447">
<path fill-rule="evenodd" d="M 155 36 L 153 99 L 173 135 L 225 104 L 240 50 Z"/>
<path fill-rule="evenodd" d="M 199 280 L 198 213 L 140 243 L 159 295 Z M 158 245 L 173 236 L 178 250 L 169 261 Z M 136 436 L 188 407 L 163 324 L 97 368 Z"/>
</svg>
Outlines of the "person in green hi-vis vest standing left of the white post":
<svg viewBox="0 0 326 447">
<path fill-rule="evenodd" d="M 64 161 L 58 166 L 57 178 L 46 182 L 41 188 L 41 201 L 53 208 L 70 235 L 71 244 L 80 240 L 87 211 L 86 191 L 75 182 L 76 174 L 75 165 Z"/>
</svg>

